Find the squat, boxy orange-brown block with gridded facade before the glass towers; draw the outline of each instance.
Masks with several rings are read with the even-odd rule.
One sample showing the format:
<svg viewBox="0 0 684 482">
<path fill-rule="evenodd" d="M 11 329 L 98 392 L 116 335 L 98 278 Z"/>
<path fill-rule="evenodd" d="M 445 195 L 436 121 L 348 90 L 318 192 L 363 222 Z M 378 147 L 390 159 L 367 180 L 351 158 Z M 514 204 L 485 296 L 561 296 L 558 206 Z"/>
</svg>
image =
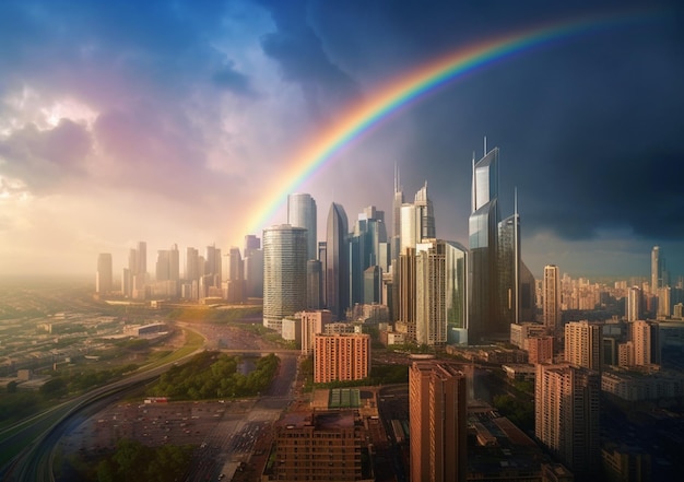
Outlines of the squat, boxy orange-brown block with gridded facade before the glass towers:
<svg viewBox="0 0 684 482">
<path fill-rule="evenodd" d="M 362 380 L 369 374 L 369 334 L 314 336 L 315 384 Z"/>
</svg>

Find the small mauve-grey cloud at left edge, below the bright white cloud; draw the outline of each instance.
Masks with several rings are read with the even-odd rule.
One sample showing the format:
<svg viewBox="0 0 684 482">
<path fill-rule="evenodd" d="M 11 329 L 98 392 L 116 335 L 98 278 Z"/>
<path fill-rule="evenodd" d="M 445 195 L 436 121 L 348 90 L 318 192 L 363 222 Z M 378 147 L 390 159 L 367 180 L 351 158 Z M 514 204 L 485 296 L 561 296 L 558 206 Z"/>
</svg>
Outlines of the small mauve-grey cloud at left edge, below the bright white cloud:
<svg viewBox="0 0 684 482">
<path fill-rule="evenodd" d="M 91 150 L 89 131 L 69 119 L 49 130 L 27 125 L 0 140 L 0 169 L 36 192 L 51 191 L 66 178 L 85 174 Z"/>
</svg>

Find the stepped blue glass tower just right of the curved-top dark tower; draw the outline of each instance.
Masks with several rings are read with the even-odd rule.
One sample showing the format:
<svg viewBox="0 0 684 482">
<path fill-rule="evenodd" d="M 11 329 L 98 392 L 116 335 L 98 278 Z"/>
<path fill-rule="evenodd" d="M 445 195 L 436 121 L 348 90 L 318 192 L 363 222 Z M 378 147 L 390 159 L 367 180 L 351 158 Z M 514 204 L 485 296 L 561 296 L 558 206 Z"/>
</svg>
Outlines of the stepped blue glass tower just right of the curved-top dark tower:
<svg viewBox="0 0 684 482">
<path fill-rule="evenodd" d="M 376 210 L 375 205 L 364 209 L 358 214 L 354 230 L 350 235 L 350 286 L 351 305 L 364 303 L 365 297 L 365 272 L 368 268 L 380 266 L 380 245 L 387 243 L 387 230 L 385 226 L 385 212 Z M 387 260 L 382 262 L 387 266 Z M 375 286 L 370 286 L 374 290 Z M 375 303 L 381 303 L 380 290 L 377 284 L 377 297 Z"/>
</svg>

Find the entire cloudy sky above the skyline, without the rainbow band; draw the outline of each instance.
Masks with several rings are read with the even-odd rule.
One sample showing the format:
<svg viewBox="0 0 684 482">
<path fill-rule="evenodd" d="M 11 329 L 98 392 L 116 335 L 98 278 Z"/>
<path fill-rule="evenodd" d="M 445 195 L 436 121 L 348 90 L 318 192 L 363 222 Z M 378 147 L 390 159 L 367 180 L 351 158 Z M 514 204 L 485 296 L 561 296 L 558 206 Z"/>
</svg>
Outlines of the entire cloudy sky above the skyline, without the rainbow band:
<svg viewBox="0 0 684 482">
<path fill-rule="evenodd" d="M 599 20 L 455 77 L 300 172 L 388 84 L 575 19 Z M 408 201 L 427 183 L 437 236 L 468 246 L 485 137 L 535 275 L 648 275 L 654 245 L 684 274 L 682 79 L 676 1 L 2 1 L 0 275 L 94 274 L 99 252 L 119 273 L 139 240 L 151 273 L 174 244 L 227 252 L 287 221 L 297 173 L 320 240 L 333 201 L 390 225 L 394 166 Z"/>
</svg>

